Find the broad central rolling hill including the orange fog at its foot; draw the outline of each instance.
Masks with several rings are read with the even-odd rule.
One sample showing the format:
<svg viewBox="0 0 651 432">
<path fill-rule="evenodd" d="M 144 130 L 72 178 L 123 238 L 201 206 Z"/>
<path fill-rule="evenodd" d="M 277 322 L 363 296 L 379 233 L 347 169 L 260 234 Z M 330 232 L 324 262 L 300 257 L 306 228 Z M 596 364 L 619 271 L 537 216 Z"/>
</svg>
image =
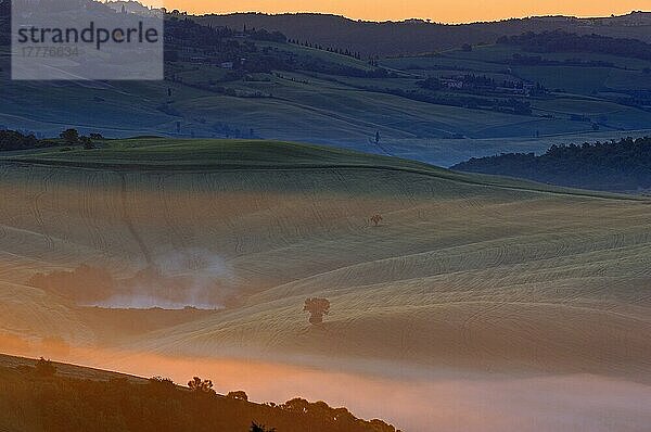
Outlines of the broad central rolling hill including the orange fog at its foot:
<svg viewBox="0 0 651 432">
<path fill-rule="evenodd" d="M 596 431 L 648 423 L 648 199 L 261 140 L 12 153 L 0 178 L 3 352 L 196 370 L 408 430 L 575 430 L 559 412 Z M 137 290 L 93 306 L 29 285 L 81 265 Z M 320 326 L 303 312 L 314 296 L 332 305 Z M 204 310 L 151 309 L 186 305 Z M 565 402 L 540 408 L 531 389 Z M 605 389 L 636 403 L 595 417 Z M 430 399 L 441 410 L 404 409 Z M 450 419 L 454 404 L 502 418 Z"/>
</svg>

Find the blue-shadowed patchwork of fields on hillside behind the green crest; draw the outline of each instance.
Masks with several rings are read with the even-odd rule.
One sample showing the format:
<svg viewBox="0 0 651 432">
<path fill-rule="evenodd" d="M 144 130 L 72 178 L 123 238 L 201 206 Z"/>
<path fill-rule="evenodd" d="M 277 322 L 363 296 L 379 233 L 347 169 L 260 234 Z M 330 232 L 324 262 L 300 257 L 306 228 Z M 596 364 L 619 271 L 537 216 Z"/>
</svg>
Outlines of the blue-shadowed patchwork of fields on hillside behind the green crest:
<svg viewBox="0 0 651 432">
<path fill-rule="evenodd" d="M 259 42 L 341 67 L 363 72 L 365 61 L 291 43 Z M 580 143 L 649 134 L 648 109 L 621 102 L 647 91 L 651 63 L 589 53 L 550 53 L 549 61 L 577 65 L 512 65 L 506 46 L 472 52 L 383 59 L 391 76 L 353 77 L 308 71 L 273 71 L 228 77 L 214 65 L 168 65 L 175 80 L 161 82 L 17 82 L 0 65 L 0 127 L 55 137 L 67 127 L 107 137 L 260 138 L 312 142 L 391 154 L 451 166 L 472 156 L 503 151 L 541 152 L 552 143 Z M 3 59 L 0 49 L 0 59 Z M 590 66 L 588 62 L 608 62 Z M 486 76 L 501 82 L 541 84 L 544 97 L 522 98 L 531 115 L 495 107 L 474 109 L 462 98 L 508 102 L 508 94 L 472 90 L 427 92 L 427 77 Z M 456 77 L 456 78 L 455 78 Z M 423 100 L 423 98 L 434 98 Z M 439 99 L 436 99 L 439 98 Z M 442 104 L 441 98 L 456 101 Z M 461 100 L 459 100 L 461 98 Z M 596 128 L 598 130 L 596 130 Z M 374 143 L 375 134 L 380 145 Z"/>
</svg>

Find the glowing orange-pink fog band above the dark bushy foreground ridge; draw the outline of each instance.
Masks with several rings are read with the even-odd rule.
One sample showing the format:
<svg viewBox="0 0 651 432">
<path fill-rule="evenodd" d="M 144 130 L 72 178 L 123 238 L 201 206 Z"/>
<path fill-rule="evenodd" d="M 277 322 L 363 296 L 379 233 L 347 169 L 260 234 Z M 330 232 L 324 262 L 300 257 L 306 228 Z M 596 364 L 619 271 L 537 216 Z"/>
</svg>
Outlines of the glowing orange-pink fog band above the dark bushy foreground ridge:
<svg viewBox="0 0 651 432">
<path fill-rule="evenodd" d="M 116 358 L 116 357 L 114 357 Z M 295 396 L 345 406 L 404 431 L 649 432 L 651 386 L 596 376 L 507 377 L 339 364 L 329 369 L 257 360 L 138 355 L 97 365 L 177 383 L 212 379 L 219 393 L 244 390 L 255 402 Z M 355 372 L 353 372 L 355 371 Z"/>
</svg>

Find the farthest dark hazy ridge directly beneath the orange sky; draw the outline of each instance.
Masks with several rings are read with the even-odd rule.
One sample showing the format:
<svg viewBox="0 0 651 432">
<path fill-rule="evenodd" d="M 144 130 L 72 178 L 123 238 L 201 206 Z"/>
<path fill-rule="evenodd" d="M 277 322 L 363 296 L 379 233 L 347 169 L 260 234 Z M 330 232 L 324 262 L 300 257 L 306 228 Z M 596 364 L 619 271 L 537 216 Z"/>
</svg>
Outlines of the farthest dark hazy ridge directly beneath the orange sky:
<svg viewBox="0 0 651 432">
<path fill-rule="evenodd" d="M 501 36 L 526 31 L 564 30 L 651 41 L 651 13 L 603 18 L 545 16 L 490 23 L 445 25 L 421 20 L 366 22 L 327 14 L 235 13 L 199 16 L 201 23 L 231 28 L 265 28 L 289 38 L 327 47 L 349 49 L 363 55 L 408 55 L 430 53 L 464 43 L 493 43 Z"/>
</svg>

